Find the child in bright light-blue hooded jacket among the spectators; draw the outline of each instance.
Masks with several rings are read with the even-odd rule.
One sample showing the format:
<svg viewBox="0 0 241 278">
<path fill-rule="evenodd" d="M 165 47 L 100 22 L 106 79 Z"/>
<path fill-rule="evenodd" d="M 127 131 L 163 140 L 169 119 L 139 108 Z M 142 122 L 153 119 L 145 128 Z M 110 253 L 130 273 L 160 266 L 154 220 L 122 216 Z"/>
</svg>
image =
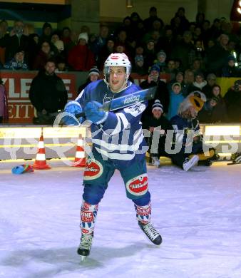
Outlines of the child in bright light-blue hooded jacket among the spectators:
<svg viewBox="0 0 241 278">
<path fill-rule="evenodd" d="M 182 86 L 180 83 L 173 83 L 171 91 L 170 91 L 170 103 L 168 107 L 167 118 L 170 120 L 175 115 L 178 115 L 178 108 L 181 102 L 184 100 L 184 96 L 182 91 Z"/>
</svg>

